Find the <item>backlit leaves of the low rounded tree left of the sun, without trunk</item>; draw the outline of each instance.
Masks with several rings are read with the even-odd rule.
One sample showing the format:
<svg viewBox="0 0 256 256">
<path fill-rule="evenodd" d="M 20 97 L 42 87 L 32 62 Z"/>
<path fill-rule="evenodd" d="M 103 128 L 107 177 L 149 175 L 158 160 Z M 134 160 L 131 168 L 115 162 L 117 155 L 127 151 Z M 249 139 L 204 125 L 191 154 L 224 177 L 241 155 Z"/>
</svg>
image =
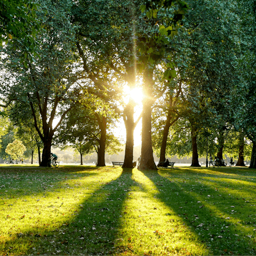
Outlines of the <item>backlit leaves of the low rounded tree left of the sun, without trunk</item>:
<svg viewBox="0 0 256 256">
<path fill-rule="evenodd" d="M 119 146 L 121 146 L 121 143 L 111 132 L 111 126 L 115 121 L 110 116 L 111 111 L 104 110 L 101 104 L 97 105 L 97 108 L 93 108 L 93 104 L 90 104 L 89 107 L 91 109 L 77 105 L 67 114 L 64 122 L 62 122 L 58 129 L 54 139 L 55 144 L 61 148 L 71 146 L 81 155 L 92 153 L 93 149 L 99 146 L 101 136 L 100 124 L 97 117 L 95 117 L 95 111 L 98 110 L 100 115 L 108 117 L 106 150 L 110 154 L 116 154 L 120 151 Z"/>
</svg>

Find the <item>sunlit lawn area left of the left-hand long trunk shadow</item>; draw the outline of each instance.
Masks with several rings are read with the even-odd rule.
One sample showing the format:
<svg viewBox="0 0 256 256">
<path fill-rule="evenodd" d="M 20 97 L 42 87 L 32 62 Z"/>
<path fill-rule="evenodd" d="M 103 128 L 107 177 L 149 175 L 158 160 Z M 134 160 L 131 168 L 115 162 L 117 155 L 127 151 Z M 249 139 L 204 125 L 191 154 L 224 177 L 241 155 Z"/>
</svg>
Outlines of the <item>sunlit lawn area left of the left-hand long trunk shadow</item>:
<svg viewBox="0 0 256 256">
<path fill-rule="evenodd" d="M 60 235 L 66 234 L 62 230 L 76 222 L 86 201 L 92 197 L 95 203 L 106 201 L 106 195 L 101 199 L 94 196 L 95 191 L 120 175 L 120 171 L 103 176 L 101 171 L 90 171 L 3 175 L 0 185 L 1 189 L 4 188 L 4 191 L 0 190 L 0 209 L 3 213 L 0 217 L 0 255 L 4 252 L 10 255 L 28 253 L 33 246 L 37 247 L 35 252 L 42 250 L 42 246 L 49 252 L 61 252 L 55 244 Z M 72 232 L 67 238 L 71 235 Z M 63 241 L 67 241 L 67 238 L 63 238 Z M 60 245 L 63 241 L 59 241 Z"/>
</svg>

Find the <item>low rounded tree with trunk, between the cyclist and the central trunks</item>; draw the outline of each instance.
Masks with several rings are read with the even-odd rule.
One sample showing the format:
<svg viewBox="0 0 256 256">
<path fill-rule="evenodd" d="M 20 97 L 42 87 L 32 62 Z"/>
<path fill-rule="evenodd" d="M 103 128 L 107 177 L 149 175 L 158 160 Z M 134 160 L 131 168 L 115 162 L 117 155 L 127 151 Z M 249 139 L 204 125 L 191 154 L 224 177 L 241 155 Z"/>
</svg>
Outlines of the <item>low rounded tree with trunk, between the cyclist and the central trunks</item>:
<svg viewBox="0 0 256 256">
<path fill-rule="evenodd" d="M 94 148 L 98 154 L 97 165 L 105 166 L 105 151 L 116 152 L 121 145 L 111 133 L 116 114 L 106 110 L 105 105 L 95 97 L 85 98 L 82 104 L 67 114 L 65 122 L 59 126 L 55 142 L 61 148 L 75 148 L 81 156 L 81 164 L 83 155 L 92 153 Z"/>
</svg>

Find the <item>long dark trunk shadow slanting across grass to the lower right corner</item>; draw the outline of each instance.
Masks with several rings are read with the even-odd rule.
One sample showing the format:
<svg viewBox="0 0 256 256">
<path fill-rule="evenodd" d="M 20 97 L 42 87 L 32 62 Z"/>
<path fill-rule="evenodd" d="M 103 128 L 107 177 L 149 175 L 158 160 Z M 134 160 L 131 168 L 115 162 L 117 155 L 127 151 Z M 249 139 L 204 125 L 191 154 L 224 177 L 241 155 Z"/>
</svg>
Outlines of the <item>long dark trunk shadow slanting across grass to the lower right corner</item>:
<svg viewBox="0 0 256 256">
<path fill-rule="evenodd" d="M 183 218 L 186 225 L 201 239 L 201 243 L 211 249 L 213 255 L 255 255 L 255 239 L 250 242 L 248 237 L 239 234 L 239 227 L 230 222 L 230 217 L 217 215 L 210 205 L 203 202 L 205 198 L 201 197 L 199 191 L 190 190 L 193 189 L 192 186 L 190 189 L 185 187 L 184 180 L 172 181 L 159 173 L 155 173 L 153 179 L 152 173 L 142 173 L 155 183 L 159 190 L 157 197 Z M 159 183 L 159 180 L 162 182 Z"/>
</svg>

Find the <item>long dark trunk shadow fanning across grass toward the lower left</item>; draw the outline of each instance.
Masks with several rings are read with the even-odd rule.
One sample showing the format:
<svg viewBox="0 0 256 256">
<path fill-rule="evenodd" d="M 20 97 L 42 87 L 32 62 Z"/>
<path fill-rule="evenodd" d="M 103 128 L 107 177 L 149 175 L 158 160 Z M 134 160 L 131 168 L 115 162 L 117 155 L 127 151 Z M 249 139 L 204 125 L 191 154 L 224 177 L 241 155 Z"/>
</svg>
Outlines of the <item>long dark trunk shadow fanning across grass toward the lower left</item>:
<svg viewBox="0 0 256 256">
<path fill-rule="evenodd" d="M 34 252 L 36 255 L 111 254 L 118 227 L 122 224 L 122 205 L 132 186 L 131 175 L 132 171 L 123 170 L 117 179 L 94 191 L 70 213 L 70 219 L 61 227 L 55 230 L 41 229 L 38 231 L 41 234 L 33 236 L 31 233 L 34 229 L 27 230 L 26 234 L 17 234 L 6 242 L 3 253 L 14 255 L 18 245 L 28 246 L 25 253 Z"/>
</svg>

